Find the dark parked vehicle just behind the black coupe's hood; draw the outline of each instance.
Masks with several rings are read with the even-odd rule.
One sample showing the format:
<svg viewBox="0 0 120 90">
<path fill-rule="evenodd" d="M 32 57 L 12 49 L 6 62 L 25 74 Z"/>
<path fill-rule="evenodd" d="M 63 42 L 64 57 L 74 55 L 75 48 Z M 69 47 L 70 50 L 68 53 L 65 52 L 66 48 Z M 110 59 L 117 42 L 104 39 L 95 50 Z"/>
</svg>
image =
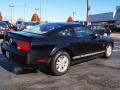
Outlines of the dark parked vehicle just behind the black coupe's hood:
<svg viewBox="0 0 120 90">
<path fill-rule="evenodd" d="M 89 25 L 89 27 L 99 35 L 110 36 L 111 29 L 107 25 Z"/>
</svg>

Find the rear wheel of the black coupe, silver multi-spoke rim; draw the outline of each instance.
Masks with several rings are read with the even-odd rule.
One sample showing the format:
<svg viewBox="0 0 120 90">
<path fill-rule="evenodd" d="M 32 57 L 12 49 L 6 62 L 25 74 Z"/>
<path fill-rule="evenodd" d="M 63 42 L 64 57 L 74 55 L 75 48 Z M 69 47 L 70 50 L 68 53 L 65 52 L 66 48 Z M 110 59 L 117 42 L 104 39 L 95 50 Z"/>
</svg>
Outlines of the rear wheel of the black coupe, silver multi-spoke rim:
<svg viewBox="0 0 120 90">
<path fill-rule="evenodd" d="M 65 74 L 70 67 L 71 57 L 65 51 L 58 51 L 50 63 L 50 72 L 52 75 L 60 76 Z"/>
</svg>

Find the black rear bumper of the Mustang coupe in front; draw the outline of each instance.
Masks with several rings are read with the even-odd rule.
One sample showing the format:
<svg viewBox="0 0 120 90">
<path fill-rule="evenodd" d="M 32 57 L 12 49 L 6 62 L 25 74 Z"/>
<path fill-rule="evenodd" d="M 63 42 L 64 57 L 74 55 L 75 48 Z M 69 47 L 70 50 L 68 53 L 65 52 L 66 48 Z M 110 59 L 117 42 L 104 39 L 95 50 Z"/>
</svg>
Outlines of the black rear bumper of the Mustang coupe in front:
<svg viewBox="0 0 120 90">
<path fill-rule="evenodd" d="M 40 55 L 38 56 L 38 52 L 31 51 L 31 52 L 22 52 L 9 46 L 7 43 L 1 44 L 1 49 L 3 55 L 10 61 L 14 62 L 15 64 L 22 66 L 22 67 L 38 67 L 38 66 L 46 66 L 48 65 L 48 58 L 45 56 Z M 37 62 L 37 60 L 46 60 L 46 62 Z"/>
</svg>

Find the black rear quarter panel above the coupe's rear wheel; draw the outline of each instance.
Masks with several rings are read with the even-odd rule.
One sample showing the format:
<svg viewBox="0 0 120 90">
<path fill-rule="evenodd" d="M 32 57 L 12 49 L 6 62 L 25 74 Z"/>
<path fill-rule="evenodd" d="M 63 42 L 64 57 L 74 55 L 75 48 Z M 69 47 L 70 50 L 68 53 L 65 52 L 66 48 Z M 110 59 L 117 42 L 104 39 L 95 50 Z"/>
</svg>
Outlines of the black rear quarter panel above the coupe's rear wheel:
<svg viewBox="0 0 120 90">
<path fill-rule="evenodd" d="M 59 50 L 73 52 L 70 47 L 70 39 L 61 37 L 43 37 L 34 38 L 31 43 L 32 52 L 41 52 L 44 57 L 51 57 Z"/>
</svg>

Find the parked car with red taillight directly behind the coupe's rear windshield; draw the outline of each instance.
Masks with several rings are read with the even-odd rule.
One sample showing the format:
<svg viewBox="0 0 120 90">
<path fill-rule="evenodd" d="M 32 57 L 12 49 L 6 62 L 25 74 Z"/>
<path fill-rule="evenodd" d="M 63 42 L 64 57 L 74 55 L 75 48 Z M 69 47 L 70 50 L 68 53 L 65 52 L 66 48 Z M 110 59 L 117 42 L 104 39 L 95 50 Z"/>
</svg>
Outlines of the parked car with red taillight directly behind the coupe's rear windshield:
<svg viewBox="0 0 120 90">
<path fill-rule="evenodd" d="M 38 25 L 38 24 L 39 24 L 38 22 L 22 22 L 20 24 L 19 30 L 26 30 L 26 29 L 29 29 L 29 28 L 31 28 L 33 26 Z"/>
</svg>

